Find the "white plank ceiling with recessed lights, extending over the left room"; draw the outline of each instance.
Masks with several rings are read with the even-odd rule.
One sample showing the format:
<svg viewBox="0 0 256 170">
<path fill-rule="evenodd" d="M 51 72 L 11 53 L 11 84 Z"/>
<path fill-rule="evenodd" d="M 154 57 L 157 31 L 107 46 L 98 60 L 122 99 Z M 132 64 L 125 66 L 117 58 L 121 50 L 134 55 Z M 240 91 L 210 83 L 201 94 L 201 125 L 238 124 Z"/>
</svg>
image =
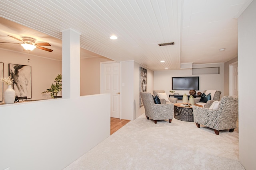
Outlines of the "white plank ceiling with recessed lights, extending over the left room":
<svg viewBox="0 0 256 170">
<path fill-rule="evenodd" d="M 252 0 L 1 0 L 0 42 L 22 37 L 53 49 L 31 55 L 61 60 L 62 33 L 81 33 L 81 57 L 134 60 L 152 70 L 180 63 L 223 63 L 237 57 L 237 17 Z M 116 35 L 118 39 L 110 39 Z M 174 42 L 162 46 L 159 43 Z M 0 48 L 23 51 L 17 44 Z M 226 51 L 220 52 L 219 49 Z M 160 63 L 160 61 L 166 61 Z"/>
</svg>

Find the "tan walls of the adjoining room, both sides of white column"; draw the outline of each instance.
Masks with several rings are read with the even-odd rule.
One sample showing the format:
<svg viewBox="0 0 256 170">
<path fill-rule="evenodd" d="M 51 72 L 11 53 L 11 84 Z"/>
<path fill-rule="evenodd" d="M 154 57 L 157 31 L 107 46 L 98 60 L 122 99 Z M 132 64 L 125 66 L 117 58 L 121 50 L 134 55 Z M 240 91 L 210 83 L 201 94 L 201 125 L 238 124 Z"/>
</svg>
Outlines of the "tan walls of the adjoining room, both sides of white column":
<svg viewBox="0 0 256 170">
<path fill-rule="evenodd" d="M 0 62 L 4 63 L 4 77 L 8 76 L 8 64 L 31 66 L 32 99 L 50 99 L 49 94 L 41 94 L 50 88 L 54 78 L 62 72 L 62 61 L 46 59 L 26 53 L 17 53 L 0 49 Z M 28 63 L 28 57 L 30 62 Z M 80 60 L 80 96 L 100 94 L 100 62 L 112 61 L 105 57 L 93 57 Z M 7 88 L 4 85 L 4 90 Z M 61 96 L 61 93 L 60 93 Z M 2 102 L 0 102 L 2 103 Z"/>
</svg>

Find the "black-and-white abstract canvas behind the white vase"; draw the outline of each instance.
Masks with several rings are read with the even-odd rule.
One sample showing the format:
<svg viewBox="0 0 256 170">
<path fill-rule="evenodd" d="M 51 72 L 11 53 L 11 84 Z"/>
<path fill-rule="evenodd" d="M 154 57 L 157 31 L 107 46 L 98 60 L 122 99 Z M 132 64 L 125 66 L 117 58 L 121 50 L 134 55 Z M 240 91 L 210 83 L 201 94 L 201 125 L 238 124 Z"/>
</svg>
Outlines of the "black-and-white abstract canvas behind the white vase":
<svg viewBox="0 0 256 170">
<path fill-rule="evenodd" d="M 13 78 L 12 87 L 16 96 L 31 99 L 31 66 L 9 64 L 9 75 Z"/>
</svg>

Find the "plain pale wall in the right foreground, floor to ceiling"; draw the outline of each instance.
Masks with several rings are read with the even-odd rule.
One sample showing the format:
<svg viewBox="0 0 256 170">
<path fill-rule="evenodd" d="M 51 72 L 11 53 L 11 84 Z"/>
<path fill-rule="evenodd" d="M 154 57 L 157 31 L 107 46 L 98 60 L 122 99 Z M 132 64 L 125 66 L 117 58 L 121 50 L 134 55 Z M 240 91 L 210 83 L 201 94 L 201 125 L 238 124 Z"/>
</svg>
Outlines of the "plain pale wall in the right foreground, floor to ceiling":
<svg viewBox="0 0 256 170">
<path fill-rule="evenodd" d="M 239 161 L 246 170 L 256 167 L 255 9 L 253 0 L 238 18 Z"/>
</svg>

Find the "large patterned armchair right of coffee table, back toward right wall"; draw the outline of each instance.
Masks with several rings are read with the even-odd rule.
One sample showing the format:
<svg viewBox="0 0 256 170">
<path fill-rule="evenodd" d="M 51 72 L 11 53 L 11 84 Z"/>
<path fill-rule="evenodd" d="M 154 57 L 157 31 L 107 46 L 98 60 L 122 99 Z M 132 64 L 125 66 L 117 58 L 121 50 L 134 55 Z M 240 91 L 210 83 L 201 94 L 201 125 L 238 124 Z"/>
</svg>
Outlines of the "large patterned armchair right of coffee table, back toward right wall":
<svg viewBox="0 0 256 170">
<path fill-rule="evenodd" d="M 220 130 L 229 129 L 233 132 L 238 119 L 238 97 L 224 96 L 220 100 L 218 109 L 208 109 L 193 106 L 194 122 L 200 128 L 200 124 L 214 129 L 216 135 Z"/>
</svg>

